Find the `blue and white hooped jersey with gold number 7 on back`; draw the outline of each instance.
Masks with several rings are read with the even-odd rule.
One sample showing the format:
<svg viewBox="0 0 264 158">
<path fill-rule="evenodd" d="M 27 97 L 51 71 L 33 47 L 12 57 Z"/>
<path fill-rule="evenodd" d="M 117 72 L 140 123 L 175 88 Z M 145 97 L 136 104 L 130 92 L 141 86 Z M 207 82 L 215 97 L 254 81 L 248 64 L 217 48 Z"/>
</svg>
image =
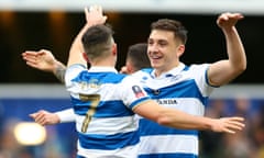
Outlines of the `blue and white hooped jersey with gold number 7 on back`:
<svg viewBox="0 0 264 158">
<path fill-rule="evenodd" d="M 65 83 L 70 92 L 78 132 L 78 156 L 135 158 L 139 121 L 133 109 L 150 100 L 131 77 L 110 67 L 73 65 Z"/>
</svg>

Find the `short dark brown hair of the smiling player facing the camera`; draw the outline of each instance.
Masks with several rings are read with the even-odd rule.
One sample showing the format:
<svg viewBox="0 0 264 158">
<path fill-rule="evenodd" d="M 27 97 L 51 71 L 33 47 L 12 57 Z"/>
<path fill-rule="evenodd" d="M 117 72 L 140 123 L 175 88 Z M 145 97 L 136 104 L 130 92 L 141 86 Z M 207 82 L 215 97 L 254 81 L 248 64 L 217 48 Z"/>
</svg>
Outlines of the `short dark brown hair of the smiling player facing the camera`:
<svg viewBox="0 0 264 158">
<path fill-rule="evenodd" d="M 175 37 L 179 38 L 183 44 L 186 44 L 187 42 L 188 31 L 179 21 L 161 19 L 151 24 L 151 30 L 152 31 L 153 30 L 170 31 L 170 32 L 174 32 Z"/>
</svg>

